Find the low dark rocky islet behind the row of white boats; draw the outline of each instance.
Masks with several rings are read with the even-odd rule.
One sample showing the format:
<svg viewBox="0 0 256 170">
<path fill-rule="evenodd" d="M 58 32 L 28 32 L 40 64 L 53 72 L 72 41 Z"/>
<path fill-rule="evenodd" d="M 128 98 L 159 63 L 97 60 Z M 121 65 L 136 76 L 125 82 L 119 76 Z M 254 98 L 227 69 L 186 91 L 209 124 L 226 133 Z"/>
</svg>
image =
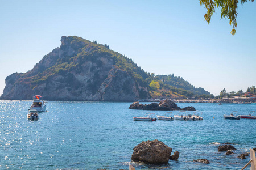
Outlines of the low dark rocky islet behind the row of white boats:
<svg viewBox="0 0 256 170">
<path fill-rule="evenodd" d="M 139 101 L 135 101 L 130 105 L 129 109 L 138 109 L 138 110 L 152 110 L 152 111 L 174 111 L 174 110 L 185 110 L 185 111 L 196 111 L 194 107 L 185 107 L 180 108 L 174 101 L 170 99 L 166 99 L 164 101 L 160 101 L 159 103 L 151 103 L 151 104 L 139 104 Z"/>
</svg>

